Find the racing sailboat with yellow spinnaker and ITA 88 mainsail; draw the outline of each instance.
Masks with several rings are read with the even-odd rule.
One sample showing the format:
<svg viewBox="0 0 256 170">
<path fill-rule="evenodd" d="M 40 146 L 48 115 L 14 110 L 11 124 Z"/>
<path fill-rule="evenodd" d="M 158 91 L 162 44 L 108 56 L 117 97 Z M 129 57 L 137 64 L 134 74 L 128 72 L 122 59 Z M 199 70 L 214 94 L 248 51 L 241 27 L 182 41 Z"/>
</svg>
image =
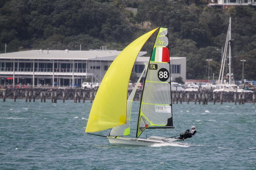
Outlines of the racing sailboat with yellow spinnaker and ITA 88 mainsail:
<svg viewBox="0 0 256 170">
<path fill-rule="evenodd" d="M 149 62 L 127 100 L 135 60 L 143 45 L 157 30 Z M 130 135 L 132 100 L 145 71 L 136 137 L 128 138 L 125 136 Z M 180 140 L 158 136 L 140 138 L 144 130 L 174 128 L 171 96 L 168 29 L 160 27 L 129 44 L 110 65 L 93 101 L 85 132 L 96 135 L 93 132 L 112 128 L 109 135 L 103 137 L 107 137 L 109 143 L 119 145 L 150 146 Z"/>
</svg>

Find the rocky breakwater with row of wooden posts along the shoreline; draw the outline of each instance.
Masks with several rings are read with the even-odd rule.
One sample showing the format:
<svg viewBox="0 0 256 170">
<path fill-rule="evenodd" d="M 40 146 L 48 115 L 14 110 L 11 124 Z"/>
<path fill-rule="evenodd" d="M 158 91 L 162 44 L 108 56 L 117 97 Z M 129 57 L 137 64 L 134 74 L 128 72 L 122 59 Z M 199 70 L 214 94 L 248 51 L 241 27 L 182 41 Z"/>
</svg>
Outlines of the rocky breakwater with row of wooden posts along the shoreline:
<svg viewBox="0 0 256 170">
<path fill-rule="evenodd" d="M 97 93 L 97 89 L 44 89 L 44 88 L 31 88 L 31 89 L 1 89 L 0 99 L 5 101 L 5 99 L 23 99 L 24 102 L 33 102 L 35 100 L 40 100 L 41 102 L 46 102 L 46 100 L 51 100 L 52 103 L 57 103 L 57 100 L 74 100 L 74 103 L 80 103 L 81 98 L 83 103 L 85 100 L 89 100 L 91 103 L 94 100 Z M 131 90 L 128 91 L 128 94 Z M 142 90 L 137 90 L 134 96 L 134 100 L 140 101 Z M 83 95 L 83 96 L 82 96 Z M 238 97 L 238 99 L 237 99 Z M 77 102 L 78 100 L 78 102 Z M 180 102 L 179 102 L 180 101 Z M 182 104 L 186 102 L 187 104 L 207 105 L 209 102 L 215 105 L 216 103 L 223 104 L 223 102 L 244 104 L 252 103 L 255 104 L 255 92 L 212 92 L 211 90 L 205 90 L 201 92 L 172 92 L 172 104 Z"/>
</svg>

